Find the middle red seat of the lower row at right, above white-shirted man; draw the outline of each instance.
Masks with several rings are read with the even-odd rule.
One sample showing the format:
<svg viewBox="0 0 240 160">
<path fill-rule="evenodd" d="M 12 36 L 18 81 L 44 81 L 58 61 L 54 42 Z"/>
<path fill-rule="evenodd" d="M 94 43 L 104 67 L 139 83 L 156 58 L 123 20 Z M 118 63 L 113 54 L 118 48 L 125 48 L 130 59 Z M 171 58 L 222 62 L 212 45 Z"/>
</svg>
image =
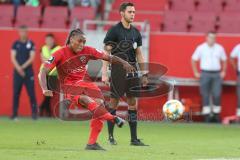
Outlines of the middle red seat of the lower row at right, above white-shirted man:
<svg viewBox="0 0 240 160">
<path fill-rule="evenodd" d="M 192 14 L 191 32 L 215 30 L 216 14 L 213 12 L 195 12 Z"/>
</svg>

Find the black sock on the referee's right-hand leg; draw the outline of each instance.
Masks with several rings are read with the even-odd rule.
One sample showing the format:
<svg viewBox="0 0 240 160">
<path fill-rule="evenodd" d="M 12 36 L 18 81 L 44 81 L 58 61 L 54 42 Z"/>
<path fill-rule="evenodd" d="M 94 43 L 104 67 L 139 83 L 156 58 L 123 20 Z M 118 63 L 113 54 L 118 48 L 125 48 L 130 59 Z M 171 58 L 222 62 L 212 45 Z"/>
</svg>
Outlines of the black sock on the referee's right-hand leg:
<svg viewBox="0 0 240 160">
<path fill-rule="evenodd" d="M 137 139 L 137 111 L 136 110 L 128 110 L 128 123 L 131 132 L 131 140 Z"/>
</svg>

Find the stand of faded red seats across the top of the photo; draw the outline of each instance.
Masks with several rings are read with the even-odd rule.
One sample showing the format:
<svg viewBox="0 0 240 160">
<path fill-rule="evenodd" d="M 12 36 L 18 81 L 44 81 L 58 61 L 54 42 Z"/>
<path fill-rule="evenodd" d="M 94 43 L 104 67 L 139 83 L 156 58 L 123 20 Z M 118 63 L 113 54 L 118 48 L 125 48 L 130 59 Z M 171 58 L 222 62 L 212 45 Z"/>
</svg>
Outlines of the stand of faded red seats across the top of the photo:
<svg viewBox="0 0 240 160">
<path fill-rule="evenodd" d="M 119 5 L 124 0 L 115 0 L 105 20 L 119 21 Z M 153 32 L 206 32 L 239 33 L 239 0 L 130 0 L 135 4 L 136 22 L 148 21 Z M 20 6 L 16 20 L 13 6 L 0 5 L 0 26 L 13 27 L 25 24 L 31 28 L 68 28 L 74 19 L 82 27 L 84 20 L 94 20 L 94 7 L 49 6 L 41 0 L 41 7 Z M 44 11 L 44 12 L 42 12 Z M 176 16 L 177 15 L 177 16 Z M 54 23 L 53 23 L 54 22 Z M 231 26 L 231 28 L 229 27 Z M 90 25 L 96 29 L 96 25 Z M 104 30 L 108 29 L 104 27 Z"/>
</svg>

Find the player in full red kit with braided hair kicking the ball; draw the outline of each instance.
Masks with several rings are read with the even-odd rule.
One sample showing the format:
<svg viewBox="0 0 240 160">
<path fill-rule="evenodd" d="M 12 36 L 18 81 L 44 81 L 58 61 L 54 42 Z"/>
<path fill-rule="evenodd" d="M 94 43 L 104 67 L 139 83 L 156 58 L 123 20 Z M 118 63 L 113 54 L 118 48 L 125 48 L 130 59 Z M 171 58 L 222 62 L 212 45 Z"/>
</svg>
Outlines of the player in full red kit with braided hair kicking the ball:
<svg viewBox="0 0 240 160">
<path fill-rule="evenodd" d="M 44 63 L 38 76 L 39 83 L 45 96 L 53 96 L 53 92 L 47 88 L 46 76 L 54 67 L 57 68 L 65 99 L 70 100 L 71 105 L 84 106 L 92 113 L 90 136 L 85 149 L 104 150 L 96 143 L 103 121 L 110 120 L 122 127 L 124 120 L 107 112 L 101 102 L 103 99 L 101 90 L 93 82 L 84 80 L 87 62 L 90 59 L 102 59 L 122 65 L 127 72 L 134 72 L 135 69 L 121 58 L 85 46 L 85 43 L 85 35 L 80 29 L 71 31 L 66 46 L 53 53 L 52 57 Z"/>
</svg>

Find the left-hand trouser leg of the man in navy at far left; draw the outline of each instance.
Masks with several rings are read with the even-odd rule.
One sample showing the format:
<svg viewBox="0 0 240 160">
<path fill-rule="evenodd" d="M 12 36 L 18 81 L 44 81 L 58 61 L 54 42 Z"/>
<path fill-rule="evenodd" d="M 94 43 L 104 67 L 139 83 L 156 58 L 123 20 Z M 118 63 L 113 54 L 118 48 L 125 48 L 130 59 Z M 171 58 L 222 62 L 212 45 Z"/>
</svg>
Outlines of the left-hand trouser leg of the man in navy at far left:
<svg viewBox="0 0 240 160">
<path fill-rule="evenodd" d="M 13 77 L 13 113 L 11 118 L 15 119 L 18 116 L 18 106 L 19 106 L 19 96 L 21 93 L 23 85 L 23 78 L 17 74 L 14 73 Z"/>
</svg>

